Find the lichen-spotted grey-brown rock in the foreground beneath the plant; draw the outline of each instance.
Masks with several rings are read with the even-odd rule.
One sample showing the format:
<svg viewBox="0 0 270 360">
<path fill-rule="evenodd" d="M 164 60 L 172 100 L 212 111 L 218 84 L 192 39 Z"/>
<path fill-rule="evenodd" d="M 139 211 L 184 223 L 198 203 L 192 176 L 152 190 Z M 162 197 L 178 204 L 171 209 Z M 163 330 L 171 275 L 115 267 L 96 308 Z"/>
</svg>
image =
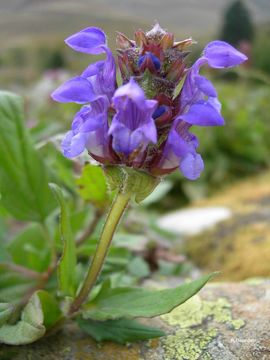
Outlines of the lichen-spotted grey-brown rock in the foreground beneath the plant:
<svg viewBox="0 0 270 360">
<path fill-rule="evenodd" d="M 74 327 L 21 347 L 2 346 L 1 360 L 268 360 L 270 282 L 209 284 L 160 318 L 144 320 L 167 336 L 147 342 L 96 344 Z"/>
</svg>

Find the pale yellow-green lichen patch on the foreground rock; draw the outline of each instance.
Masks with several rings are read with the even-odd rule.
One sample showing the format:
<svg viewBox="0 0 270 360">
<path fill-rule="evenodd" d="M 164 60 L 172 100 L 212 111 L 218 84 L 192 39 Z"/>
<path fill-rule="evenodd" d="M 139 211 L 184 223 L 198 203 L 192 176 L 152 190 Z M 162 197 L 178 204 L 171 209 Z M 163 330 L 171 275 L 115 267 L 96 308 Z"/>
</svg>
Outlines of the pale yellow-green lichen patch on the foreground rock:
<svg viewBox="0 0 270 360">
<path fill-rule="evenodd" d="M 169 325 L 178 326 L 173 335 L 162 341 L 165 359 L 168 360 L 210 360 L 212 357 L 207 347 L 218 334 L 213 322 L 217 325 L 226 324 L 233 330 L 245 324 L 242 319 L 232 318 L 231 305 L 227 299 L 206 301 L 198 295 L 161 318 Z M 209 319 L 212 321 L 207 321 Z"/>
</svg>

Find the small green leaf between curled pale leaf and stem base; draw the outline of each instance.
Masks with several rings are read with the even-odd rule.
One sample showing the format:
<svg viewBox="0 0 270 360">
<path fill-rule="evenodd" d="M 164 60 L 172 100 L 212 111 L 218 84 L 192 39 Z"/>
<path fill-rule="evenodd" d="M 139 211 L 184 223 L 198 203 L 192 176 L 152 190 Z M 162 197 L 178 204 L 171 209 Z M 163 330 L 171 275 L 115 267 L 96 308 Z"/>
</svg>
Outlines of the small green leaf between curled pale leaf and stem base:
<svg viewBox="0 0 270 360">
<path fill-rule="evenodd" d="M 56 299 L 47 291 L 39 290 L 37 295 L 42 306 L 44 326 L 49 329 L 62 317 L 62 312 Z"/>
</svg>

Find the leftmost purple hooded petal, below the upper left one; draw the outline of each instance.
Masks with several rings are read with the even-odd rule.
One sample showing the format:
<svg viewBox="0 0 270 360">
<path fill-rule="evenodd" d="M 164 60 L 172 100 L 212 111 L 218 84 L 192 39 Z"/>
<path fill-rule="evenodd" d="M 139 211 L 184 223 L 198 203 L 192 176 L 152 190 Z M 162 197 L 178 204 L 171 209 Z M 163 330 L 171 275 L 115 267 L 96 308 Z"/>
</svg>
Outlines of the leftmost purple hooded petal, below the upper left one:
<svg viewBox="0 0 270 360">
<path fill-rule="evenodd" d="M 75 102 L 85 104 L 97 98 L 89 81 L 83 77 L 75 77 L 60 85 L 51 97 L 58 102 Z"/>
</svg>

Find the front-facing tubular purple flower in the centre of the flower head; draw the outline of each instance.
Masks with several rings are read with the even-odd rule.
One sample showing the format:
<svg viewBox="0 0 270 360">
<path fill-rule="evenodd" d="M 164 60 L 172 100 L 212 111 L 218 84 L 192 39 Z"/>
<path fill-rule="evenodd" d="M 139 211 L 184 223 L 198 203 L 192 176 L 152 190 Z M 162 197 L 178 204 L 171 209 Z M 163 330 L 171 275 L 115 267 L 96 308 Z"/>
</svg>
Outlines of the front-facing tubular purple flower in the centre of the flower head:
<svg viewBox="0 0 270 360">
<path fill-rule="evenodd" d="M 152 117 L 156 100 L 147 100 L 141 87 L 131 78 L 119 87 L 113 97 L 116 114 L 109 134 L 113 137 L 113 149 L 125 157 L 157 141 L 157 130 Z"/>
</svg>

